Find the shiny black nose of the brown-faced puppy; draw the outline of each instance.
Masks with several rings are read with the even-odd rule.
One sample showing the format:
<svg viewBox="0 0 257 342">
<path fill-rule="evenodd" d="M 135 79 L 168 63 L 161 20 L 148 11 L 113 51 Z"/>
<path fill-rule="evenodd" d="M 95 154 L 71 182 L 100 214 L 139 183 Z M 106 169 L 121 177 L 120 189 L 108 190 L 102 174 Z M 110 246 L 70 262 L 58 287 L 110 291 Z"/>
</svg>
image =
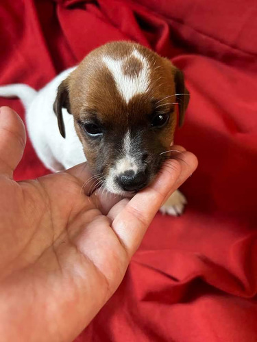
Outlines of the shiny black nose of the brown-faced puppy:
<svg viewBox="0 0 257 342">
<path fill-rule="evenodd" d="M 147 174 L 143 171 L 128 170 L 117 176 L 117 183 L 123 190 L 134 192 L 143 189 L 147 184 Z"/>
</svg>

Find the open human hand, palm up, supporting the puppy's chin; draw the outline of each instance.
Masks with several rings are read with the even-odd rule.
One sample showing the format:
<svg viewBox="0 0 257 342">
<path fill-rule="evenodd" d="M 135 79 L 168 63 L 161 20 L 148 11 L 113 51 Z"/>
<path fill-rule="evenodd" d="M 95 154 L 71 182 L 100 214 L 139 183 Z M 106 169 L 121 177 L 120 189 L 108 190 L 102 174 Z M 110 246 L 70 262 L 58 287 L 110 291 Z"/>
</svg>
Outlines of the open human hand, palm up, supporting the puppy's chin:
<svg viewBox="0 0 257 342">
<path fill-rule="evenodd" d="M 72 341 L 117 289 L 156 211 L 197 159 L 175 146 L 180 159 L 131 200 L 88 198 L 86 164 L 16 183 L 25 129 L 8 107 L 0 118 L 1 341 Z"/>
</svg>

